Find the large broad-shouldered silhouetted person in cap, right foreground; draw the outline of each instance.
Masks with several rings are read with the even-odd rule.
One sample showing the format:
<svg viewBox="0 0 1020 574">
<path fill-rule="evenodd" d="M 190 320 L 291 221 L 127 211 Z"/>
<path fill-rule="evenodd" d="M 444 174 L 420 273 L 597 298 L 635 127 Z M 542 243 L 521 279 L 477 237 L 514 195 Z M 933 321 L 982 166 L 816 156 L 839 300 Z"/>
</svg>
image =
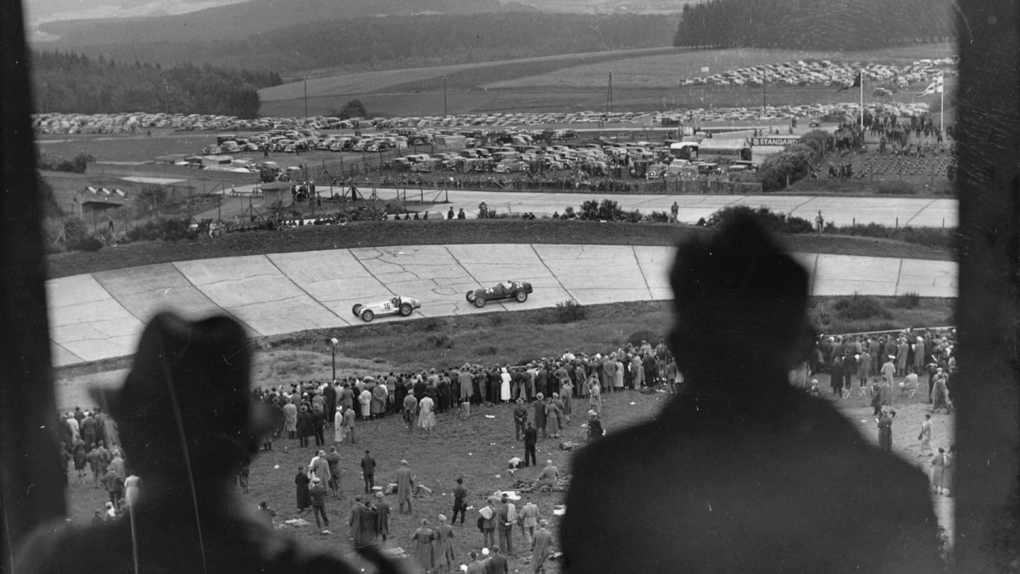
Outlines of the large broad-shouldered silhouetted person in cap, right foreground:
<svg viewBox="0 0 1020 574">
<path fill-rule="evenodd" d="M 813 341 L 797 260 L 737 216 L 680 245 L 670 284 L 685 388 L 574 455 L 562 571 L 938 571 L 924 473 L 788 383 Z"/>
</svg>

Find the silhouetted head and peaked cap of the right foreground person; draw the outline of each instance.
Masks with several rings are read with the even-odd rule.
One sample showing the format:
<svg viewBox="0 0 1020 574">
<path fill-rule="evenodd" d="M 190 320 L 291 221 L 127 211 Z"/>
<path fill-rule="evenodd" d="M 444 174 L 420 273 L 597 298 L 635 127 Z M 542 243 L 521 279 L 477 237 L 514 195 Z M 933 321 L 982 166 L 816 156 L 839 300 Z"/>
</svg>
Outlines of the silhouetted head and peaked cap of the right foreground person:
<svg viewBox="0 0 1020 574">
<path fill-rule="evenodd" d="M 680 245 L 669 279 L 670 342 L 690 384 L 744 383 L 732 375 L 750 371 L 774 380 L 811 348 L 808 274 L 750 216 Z"/>
</svg>

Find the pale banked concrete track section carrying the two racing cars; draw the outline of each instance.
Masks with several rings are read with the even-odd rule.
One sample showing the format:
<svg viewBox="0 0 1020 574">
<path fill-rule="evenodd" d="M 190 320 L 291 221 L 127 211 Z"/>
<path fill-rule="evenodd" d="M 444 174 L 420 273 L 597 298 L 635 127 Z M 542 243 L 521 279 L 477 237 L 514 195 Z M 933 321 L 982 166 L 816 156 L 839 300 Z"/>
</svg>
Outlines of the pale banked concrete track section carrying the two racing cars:
<svg viewBox="0 0 1020 574">
<path fill-rule="evenodd" d="M 362 324 L 356 303 L 415 297 L 410 318 L 659 300 L 672 296 L 671 247 L 473 244 L 363 247 L 158 264 L 54 279 L 47 283 L 54 366 L 134 352 L 145 322 L 160 309 L 198 319 L 234 316 L 254 336 Z M 957 296 L 957 264 L 926 259 L 795 254 L 815 295 Z M 464 294 L 515 279 L 534 292 L 523 303 L 477 308 Z"/>
</svg>

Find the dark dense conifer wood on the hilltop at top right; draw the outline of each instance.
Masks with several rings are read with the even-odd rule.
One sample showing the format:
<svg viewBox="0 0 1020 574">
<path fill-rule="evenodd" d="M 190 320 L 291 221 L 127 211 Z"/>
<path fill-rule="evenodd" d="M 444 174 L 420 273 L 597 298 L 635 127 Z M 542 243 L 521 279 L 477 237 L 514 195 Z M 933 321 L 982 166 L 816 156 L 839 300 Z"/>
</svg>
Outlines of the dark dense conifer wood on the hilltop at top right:
<svg viewBox="0 0 1020 574">
<path fill-rule="evenodd" d="M 709 0 L 684 4 L 673 45 L 858 50 L 955 38 L 952 0 Z"/>
</svg>

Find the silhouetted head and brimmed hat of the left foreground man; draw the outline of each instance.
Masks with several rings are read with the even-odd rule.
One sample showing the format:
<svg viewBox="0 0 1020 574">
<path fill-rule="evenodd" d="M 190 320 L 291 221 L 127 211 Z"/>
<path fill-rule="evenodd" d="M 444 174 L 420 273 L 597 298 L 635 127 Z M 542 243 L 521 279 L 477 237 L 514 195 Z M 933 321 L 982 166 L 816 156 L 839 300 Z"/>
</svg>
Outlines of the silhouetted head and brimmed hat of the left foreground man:
<svg viewBox="0 0 1020 574">
<path fill-rule="evenodd" d="M 146 481 L 232 476 L 273 427 L 250 392 L 251 350 L 226 317 L 146 326 L 123 386 L 107 392 L 132 468 Z"/>
</svg>

